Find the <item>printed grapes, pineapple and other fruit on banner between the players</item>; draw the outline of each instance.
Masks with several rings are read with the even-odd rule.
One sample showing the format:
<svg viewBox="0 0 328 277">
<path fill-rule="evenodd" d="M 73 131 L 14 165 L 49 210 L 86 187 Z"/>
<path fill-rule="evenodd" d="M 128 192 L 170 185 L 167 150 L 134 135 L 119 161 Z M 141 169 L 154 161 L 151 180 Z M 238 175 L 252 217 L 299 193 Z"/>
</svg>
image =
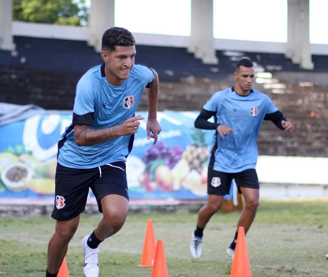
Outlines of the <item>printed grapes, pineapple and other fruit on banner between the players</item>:
<svg viewBox="0 0 328 277">
<path fill-rule="evenodd" d="M 184 188 L 197 196 L 206 195 L 209 146 L 205 142 L 205 132 L 193 129 L 191 139 L 192 144 L 184 152 L 180 147 L 168 148 L 162 141 L 147 150 L 143 158 L 146 168 L 139 177 L 147 192 Z"/>
</svg>

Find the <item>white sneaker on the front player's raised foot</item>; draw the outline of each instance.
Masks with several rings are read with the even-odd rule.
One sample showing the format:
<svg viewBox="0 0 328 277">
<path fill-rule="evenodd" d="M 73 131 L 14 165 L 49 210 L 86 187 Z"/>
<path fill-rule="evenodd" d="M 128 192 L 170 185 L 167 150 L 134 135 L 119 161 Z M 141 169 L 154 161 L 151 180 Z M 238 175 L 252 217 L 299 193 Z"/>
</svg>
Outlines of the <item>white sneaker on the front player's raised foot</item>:
<svg viewBox="0 0 328 277">
<path fill-rule="evenodd" d="M 87 240 L 89 237 L 90 235 L 87 235 L 81 241 L 82 249 L 84 250 L 83 273 L 84 277 L 98 277 L 98 252 L 100 252 L 100 249 L 99 247 L 92 249 L 88 246 Z"/>
</svg>

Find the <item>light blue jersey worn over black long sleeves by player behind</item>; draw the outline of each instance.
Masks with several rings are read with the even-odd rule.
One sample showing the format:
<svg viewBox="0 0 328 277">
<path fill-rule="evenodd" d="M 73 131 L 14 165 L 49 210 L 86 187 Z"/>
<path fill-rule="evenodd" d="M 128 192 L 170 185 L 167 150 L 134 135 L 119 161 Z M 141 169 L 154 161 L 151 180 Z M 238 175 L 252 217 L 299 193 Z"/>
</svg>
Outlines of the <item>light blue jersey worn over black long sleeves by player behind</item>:
<svg viewBox="0 0 328 277">
<path fill-rule="evenodd" d="M 255 169 L 261 123 L 266 114 L 278 111 L 271 99 L 256 90 L 241 96 L 230 87 L 216 92 L 203 109 L 216 113 L 216 123 L 233 129 L 225 139 L 215 133 L 209 166 L 226 173 Z"/>
</svg>

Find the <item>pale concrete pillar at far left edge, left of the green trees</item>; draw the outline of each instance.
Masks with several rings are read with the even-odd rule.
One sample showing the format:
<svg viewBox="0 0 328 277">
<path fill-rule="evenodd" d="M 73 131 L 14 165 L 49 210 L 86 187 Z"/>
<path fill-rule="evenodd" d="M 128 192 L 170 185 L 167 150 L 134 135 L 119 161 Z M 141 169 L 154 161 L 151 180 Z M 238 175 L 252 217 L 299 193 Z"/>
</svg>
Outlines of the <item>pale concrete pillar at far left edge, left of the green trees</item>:
<svg viewBox="0 0 328 277">
<path fill-rule="evenodd" d="M 0 49 L 14 50 L 15 44 L 11 35 L 12 0 L 0 1 Z"/>
</svg>

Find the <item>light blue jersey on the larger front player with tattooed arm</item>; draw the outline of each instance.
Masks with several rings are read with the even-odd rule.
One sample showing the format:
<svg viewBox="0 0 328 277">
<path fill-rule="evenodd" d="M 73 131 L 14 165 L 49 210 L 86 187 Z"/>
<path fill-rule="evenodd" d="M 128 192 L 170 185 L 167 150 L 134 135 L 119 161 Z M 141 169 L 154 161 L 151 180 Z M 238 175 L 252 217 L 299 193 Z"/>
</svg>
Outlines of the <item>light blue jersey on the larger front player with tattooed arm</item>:
<svg viewBox="0 0 328 277">
<path fill-rule="evenodd" d="M 134 135 L 78 146 L 74 141 L 74 124 L 91 125 L 92 129 L 123 124 L 134 116 L 145 87 L 153 80 L 153 71 L 142 65 L 134 65 L 129 78 L 118 86 L 108 82 L 104 65 L 86 72 L 76 86 L 72 123 L 58 142 L 58 163 L 84 169 L 126 161 L 132 150 Z"/>
</svg>

